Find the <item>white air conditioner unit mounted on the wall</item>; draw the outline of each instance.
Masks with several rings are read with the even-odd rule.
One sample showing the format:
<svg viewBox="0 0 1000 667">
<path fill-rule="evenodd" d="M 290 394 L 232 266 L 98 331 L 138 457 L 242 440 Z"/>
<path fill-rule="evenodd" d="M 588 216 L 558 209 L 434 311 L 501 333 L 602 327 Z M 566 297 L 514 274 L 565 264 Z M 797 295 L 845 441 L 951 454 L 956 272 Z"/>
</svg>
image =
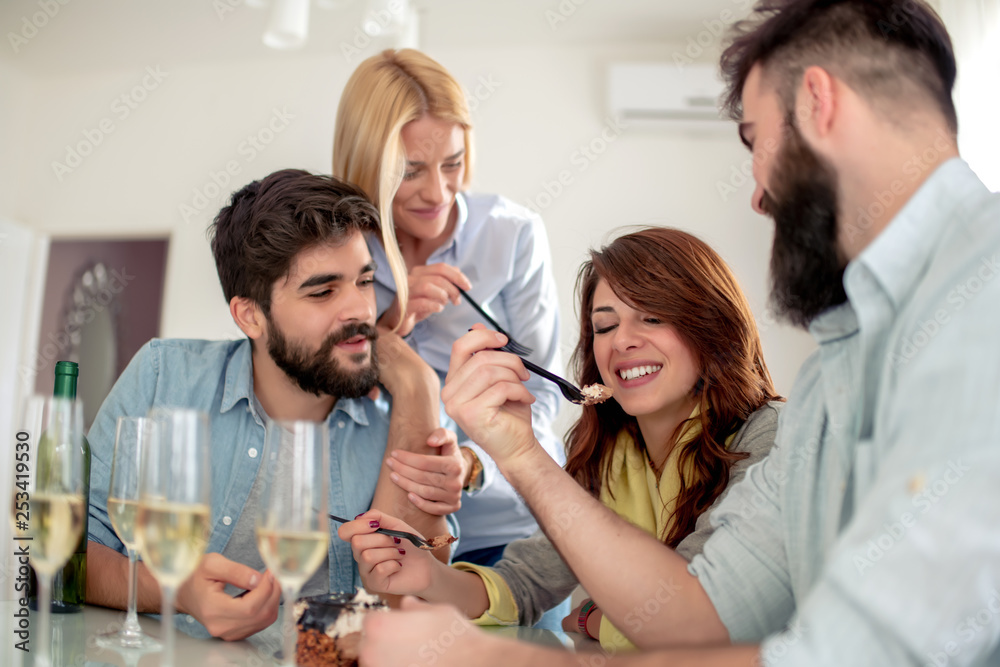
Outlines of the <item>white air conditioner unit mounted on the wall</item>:
<svg viewBox="0 0 1000 667">
<path fill-rule="evenodd" d="M 716 65 L 616 63 L 608 69 L 612 114 L 626 121 L 705 121 L 723 119 L 723 91 Z"/>
</svg>

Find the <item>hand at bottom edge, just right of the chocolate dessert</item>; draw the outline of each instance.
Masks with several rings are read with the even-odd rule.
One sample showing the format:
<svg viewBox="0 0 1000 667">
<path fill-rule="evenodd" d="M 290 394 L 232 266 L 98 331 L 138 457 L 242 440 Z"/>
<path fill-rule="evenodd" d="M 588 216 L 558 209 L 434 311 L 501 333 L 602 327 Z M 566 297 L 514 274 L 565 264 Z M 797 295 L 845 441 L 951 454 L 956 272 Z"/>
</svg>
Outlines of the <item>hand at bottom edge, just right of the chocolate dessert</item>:
<svg viewBox="0 0 1000 667">
<path fill-rule="evenodd" d="M 483 664 L 484 648 L 503 643 L 472 626 L 457 609 L 403 598 L 400 611 L 368 614 L 361 633 L 360 662 L 396 667 L 430 659 L 440 665 Z M 506 654 L 509 657 L 509 653 Z M 510 662 L 505 664 L 518 664 Z"/>
</svg>

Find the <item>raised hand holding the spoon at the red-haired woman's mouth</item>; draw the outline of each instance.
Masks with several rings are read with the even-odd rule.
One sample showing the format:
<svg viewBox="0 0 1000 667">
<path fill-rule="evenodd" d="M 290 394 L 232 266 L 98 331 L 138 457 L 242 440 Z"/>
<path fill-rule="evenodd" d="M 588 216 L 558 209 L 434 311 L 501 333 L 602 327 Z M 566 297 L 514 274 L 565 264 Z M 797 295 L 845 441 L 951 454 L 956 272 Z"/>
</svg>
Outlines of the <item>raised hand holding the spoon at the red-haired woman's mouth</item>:
<svg viewBox="0 0 1000 667">
<path fill-rule="evenodd" d="M 517 356 L 495 351 L 506 342 L 482 325 L 455 341 L 441 393 L 451 418 L 501 467 L 541 447 L 531 430 L 528 371 Z"/>
</svg>

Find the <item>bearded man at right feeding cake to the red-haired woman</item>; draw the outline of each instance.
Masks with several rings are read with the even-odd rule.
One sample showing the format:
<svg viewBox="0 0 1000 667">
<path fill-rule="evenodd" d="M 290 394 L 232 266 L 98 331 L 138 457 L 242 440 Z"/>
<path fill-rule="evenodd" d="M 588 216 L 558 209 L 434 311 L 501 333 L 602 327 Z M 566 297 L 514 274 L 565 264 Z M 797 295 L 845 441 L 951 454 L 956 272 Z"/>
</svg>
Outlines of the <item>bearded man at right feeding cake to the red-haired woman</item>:
<svg viewBox="0 0 1000 667">
<path fill-rule="evenodd" d="M 765 0 L 722 69 L 773 300 L 819 345 L 770 456 L 687 563 L 539 451 L 523 369 L 469 333 L 449 414 L 650 651 L 546 651 L 404 601 L 366 625 L 366 664 L 444 631 L 438 665 L 1000 664 L 1000 195 L 958 157 L 944 25 L 923 0 Z"/>
</svg>

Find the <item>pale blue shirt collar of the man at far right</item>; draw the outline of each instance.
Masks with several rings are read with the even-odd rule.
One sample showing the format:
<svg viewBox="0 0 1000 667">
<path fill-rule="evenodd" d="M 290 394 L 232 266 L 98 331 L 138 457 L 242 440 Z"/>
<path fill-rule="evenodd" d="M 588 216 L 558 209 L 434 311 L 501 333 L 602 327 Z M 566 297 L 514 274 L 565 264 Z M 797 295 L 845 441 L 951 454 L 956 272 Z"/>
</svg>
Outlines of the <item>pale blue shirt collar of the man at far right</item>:
<svg viewBox="0 0 1000 667">
<path fill-rule="evenodd" d="M 940 165 L 852 262 L 864 265 L 898 310 L 916 289 L 941 237 L 986 186 L 961 158 Z M 852 267 L 848 266 L 848 271 Z"/>
</svg>

